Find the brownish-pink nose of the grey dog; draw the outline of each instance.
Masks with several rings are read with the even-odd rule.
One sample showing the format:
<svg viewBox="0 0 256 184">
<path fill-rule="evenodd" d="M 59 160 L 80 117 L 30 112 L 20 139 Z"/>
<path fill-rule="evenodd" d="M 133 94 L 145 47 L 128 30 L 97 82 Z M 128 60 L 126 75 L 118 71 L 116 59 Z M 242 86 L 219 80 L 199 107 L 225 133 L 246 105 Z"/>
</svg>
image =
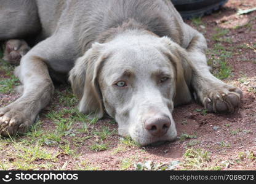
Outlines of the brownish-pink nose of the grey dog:
<svg viewBox="0 0 256 184">
<path fill-rule="evenodd" d="M 152 136 L 161 137 L 166 134 L 170 127 L 170 118 L 149 118 L 145 121 L 145 128 Z"/>
</svg>

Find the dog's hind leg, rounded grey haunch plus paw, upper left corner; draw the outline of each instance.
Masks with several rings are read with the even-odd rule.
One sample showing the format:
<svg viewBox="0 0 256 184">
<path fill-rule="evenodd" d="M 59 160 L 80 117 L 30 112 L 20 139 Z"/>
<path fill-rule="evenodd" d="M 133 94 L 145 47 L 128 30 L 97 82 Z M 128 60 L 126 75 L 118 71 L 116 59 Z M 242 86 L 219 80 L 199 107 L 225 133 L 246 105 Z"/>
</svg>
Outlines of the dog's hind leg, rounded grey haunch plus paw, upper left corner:
<svg viewBox="0 0 256 184">
<path fill-rule="evenodd" d="M 0 0 L 0 41 L 8 40 L 4 50 L 4 60 L 19 64 L 20 58 L 30 50 L 23 37 L 38 34 L 41 24 L 36 1 Z"/>
</svg>

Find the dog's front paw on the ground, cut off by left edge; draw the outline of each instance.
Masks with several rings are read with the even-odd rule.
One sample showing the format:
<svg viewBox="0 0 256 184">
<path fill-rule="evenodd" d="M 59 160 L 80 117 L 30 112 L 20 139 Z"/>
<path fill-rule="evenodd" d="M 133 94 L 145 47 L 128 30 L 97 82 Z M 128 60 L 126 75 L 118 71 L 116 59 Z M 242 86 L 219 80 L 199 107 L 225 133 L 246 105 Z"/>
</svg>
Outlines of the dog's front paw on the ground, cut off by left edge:
<svg viewBox="0 0 256 184">
<path fill-rule="evenodd" d="M 18 133 L 24 133 L 32 124 L 31 117 L 24 110 L 24 107 L 15 107 L 13 104 L 0 109 L 0 135 L 13 136 Z"/>
</svg>

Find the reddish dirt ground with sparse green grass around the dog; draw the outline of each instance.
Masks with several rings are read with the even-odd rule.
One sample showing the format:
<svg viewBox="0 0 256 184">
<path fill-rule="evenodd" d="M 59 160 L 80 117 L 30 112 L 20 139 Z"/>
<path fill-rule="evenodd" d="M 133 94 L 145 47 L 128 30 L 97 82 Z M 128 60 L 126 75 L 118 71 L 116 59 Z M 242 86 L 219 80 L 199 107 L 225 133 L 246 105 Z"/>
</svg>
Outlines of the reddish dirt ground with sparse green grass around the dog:
<svg viewBox="0 0 256 184">
<path fill-rule="evenodd" d="M 213 74 L 242 89 L 241 107 L 235 113 L 208 113 L 196 102 L 177 107 L 173 115 L 179 139 L 138 147 L 118 136 L 111 118 L 89 121 L 77 113 L 70 88 L 60 85 L 28 134 L 1 138 L 0 169 L 255 170 L 256 11 L 237 14 L 238 9 L 254 7 L 256 1 L 230 0 L 212 15 L 186 20 L 206 37 Z M 8 79 L 14 79 L 11 86 L 17 85 L 7 71 L 13 67 L 2 60 L 0 66 L 0 88 Z M 2 90 L 0 105 L 17 98 L 14 91 Z"/>
</svg>

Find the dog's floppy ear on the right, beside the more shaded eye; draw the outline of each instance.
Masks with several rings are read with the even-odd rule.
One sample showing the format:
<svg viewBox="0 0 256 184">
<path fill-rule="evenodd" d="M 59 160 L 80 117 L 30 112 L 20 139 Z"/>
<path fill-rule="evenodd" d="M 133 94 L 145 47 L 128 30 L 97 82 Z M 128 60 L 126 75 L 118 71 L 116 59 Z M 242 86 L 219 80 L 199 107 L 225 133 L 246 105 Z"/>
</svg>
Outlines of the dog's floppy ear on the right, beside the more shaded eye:
<svg viewBox="0 0 256 184">
<path fill-rule="evenodd" d="M 164 54 L 169 58 L 176 71 L 176 90 L 175 105 L 186 104 L 191 101 L 190 90 L 186 82 L 190 83 L 191 69 L 188 67 L 188 56 L 186 50 L 180 45 L 173 42 L 169 37 L 162 37 L 161 42 L 164 44 Z"/>
</svg>

